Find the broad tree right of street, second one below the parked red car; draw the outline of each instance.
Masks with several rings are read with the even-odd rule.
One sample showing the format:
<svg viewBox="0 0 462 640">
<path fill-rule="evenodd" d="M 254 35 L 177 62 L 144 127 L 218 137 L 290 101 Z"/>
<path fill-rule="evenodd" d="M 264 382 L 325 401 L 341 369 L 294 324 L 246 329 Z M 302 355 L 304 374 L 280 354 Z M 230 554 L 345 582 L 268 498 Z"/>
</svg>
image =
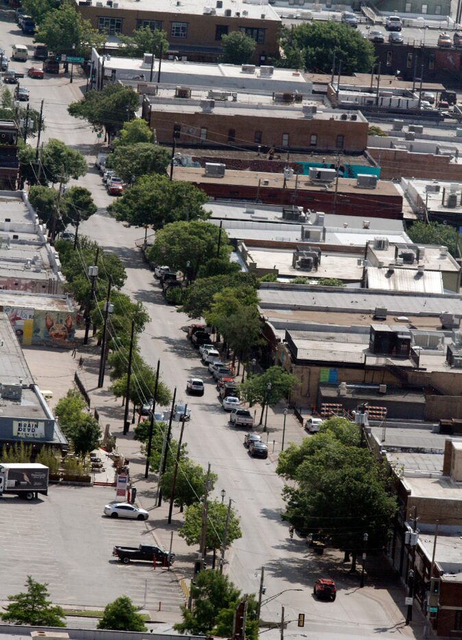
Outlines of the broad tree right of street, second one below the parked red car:
<svg viewBox="0 0 462 640">
<path fill-rule="evenodd" d="M 188 275 L 189 280 L 194 280 L 200 265 L 216 256 L 219 233 L 217 225 L 202 220 L 172 222 L 156 233 L 154 244 L 147 249 L 146 257 L 180 269 Z M 223 259 L 231 253 L 224 231 L 221 232 L 219 252 Z"/>
</svg>

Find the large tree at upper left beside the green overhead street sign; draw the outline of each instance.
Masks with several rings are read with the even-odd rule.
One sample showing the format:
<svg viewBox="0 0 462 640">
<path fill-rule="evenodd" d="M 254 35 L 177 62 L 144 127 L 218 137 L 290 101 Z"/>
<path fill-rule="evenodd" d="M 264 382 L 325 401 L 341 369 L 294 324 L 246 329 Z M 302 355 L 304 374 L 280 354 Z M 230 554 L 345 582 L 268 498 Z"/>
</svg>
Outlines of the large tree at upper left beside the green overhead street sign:
<svg viewBox="0 0 462 640">
<path fill-rule="evenodd" d="M 43 42 L 55 55 L 87 57 L 92 47 L 104 44 L 105 37 L 82 18 L 70 1 L 45 12 L 36 32 L 36 42 Z"/>
</svg>

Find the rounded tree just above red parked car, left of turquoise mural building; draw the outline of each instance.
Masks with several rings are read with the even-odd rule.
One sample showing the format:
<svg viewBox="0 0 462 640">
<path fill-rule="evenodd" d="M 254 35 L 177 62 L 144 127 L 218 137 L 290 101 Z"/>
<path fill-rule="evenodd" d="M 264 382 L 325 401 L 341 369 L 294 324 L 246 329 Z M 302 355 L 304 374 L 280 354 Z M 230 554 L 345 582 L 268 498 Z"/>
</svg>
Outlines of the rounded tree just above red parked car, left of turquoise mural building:
<svg viewBox="0 0 462 640">
<path fill-rule="evenodd" d="M 152 143 L 118 145 L 106 160 L 106 167 L 114 169 L 124 182 L 134 182 L 146 173 L 165 173 L 170 153 Z"/>
</svg>

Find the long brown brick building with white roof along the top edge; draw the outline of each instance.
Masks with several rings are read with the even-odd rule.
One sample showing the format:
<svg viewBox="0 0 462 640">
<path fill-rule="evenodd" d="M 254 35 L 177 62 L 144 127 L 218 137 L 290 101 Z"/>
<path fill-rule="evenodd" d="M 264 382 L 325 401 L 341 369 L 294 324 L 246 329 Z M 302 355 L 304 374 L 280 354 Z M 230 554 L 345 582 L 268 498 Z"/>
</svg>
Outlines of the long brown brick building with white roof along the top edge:
<svg viewBox="0 0 462 640">
<path fill-rule="evenodd" d="M 128 36 L 143 27 L 163 29 L 169 53 L 192 55 L 202 62 L 215 62 L 221 53 L 222 36 L 234 31 L 254 38 L 257 64 L 279 55 L 281 20 L 267 3 L 245 3 L 241 8 L 231 0 L 79 0 L 76 8 L 95 29 L 110 35 Z"/>
</svg>

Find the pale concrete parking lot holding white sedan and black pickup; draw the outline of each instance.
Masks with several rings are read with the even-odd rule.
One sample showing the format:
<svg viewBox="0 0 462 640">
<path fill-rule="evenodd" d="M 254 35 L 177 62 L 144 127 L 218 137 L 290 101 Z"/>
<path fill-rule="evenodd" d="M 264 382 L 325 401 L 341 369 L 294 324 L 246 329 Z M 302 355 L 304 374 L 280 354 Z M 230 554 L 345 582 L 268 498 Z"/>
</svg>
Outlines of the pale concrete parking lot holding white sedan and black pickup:
<svg viewBox="0 0 462 640">
<path fill-rule="evenodd" d="M 111 500 L 113 487 L 56 485 L 33 502 L 0 498 L 0 600 L 23 591 L 30 574 L 49 583 L 56 604 L 105 606 L 125 594 L 151 611 L 159 602 L 162 611 L 179 611 L 184 599 L 173 572 L 159 565 L 154 570 L 151 563 L 122 565 L 112 557 L 114 545 L 156 542 L 149 520 L 105 517 Z"/>
</svg>

